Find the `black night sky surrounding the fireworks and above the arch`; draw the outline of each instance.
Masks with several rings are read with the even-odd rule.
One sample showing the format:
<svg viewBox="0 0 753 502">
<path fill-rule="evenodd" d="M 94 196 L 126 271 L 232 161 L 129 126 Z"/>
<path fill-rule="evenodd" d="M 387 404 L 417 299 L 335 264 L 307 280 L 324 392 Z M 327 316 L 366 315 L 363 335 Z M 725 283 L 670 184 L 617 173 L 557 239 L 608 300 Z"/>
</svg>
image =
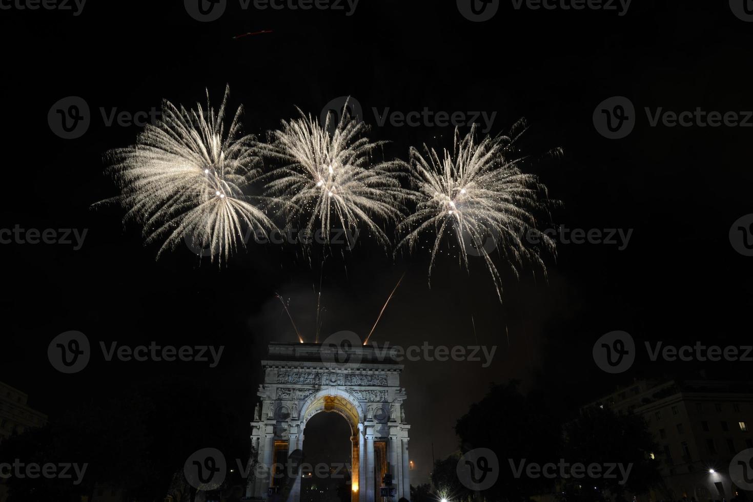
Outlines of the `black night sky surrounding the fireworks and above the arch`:
<svg viewBox="0 0 753 502">
<path fill-rule="evenodd" d="M 233 39 L 260 30 L 272 32 Z M 484 23 L 466 20 L 456 2 L 398 0 L 361 0 L 352 16 L 242 10 L 230 1 L 211 23 L 192 19 L 183 2 L 90 0 L 78 16 L 2 10 L 0 228 L 87 234 L 79 250 L 0 245 L 0 381 L 54 416 L 117 396 L 125 382 L 178 374 L 227 391 L 250 421 L 267 342 L 297 339 L 276 293 L 289 300 L 307 342 L 316 332 L 320 281 L 322 338 L 340 330 L 365 336 L 405 274 L 374 341 L 498 347 L 486 368 L 405 363 L 415 483 L 428 482 L 432 443 L 437 458 L 458 449 L 453 426 L 490 382 L 520 379 L 573 409 L 633 378 L 691 374 L 700 367 L 641 360 L 611 376 L 591 350 L 612 330 L 626 330 L 639 344 L 749 342 L 753 258 L 736 252 L 728 234 L 753 212 L 753 129 L 651 127 L 644 108 L 753 109 L 751 30 L 727 2 L 661 0 L 633 2 L 624 16 L 501 2 Z M 623 250 L 559 244 L 556 258 L 545 258 L 548 281 L 530 270 L 517 280 L 496 257 L 503 304 L 480 258 L 471 257 L 466 271 L 456 256 L 443 255 L 429 288 L 427 253 L 393 258 L 366 235 L 352 252 L 333 250 L 323 266 L 321 249 L 309 262 L 294 246 L 274 245 L 251 245 L 221 269 L 185 246 L 155 260 L 158 247 L 143 245 L 136 225 L 121 224 L 122 209 L 90 208 L 118 193 L 104 172 L 105 152 L 133 144 L 140 130 L 106 126 L 100 108 L 150 111 L 161 99 L 193 106 L 206 101 L 206 90 L 218 103 L 226 84 L 230 107 L 245 107 L 245 132 L 261 138 L 295 117 L 296 106 L 319 116 L 332 99 L 354 96 L 372 126 L 369 137 L 391 141 L 387 159 L 407 160 L 408 148 L 423 142 L 450 148 L 453 129 L 377 126 L 372 108 L 496 112 L 492 134 L 526 117 L 523 151 L 564 152 L 526 166 L 560 201 L 542 226 L 632 229 L 630 242 Z M 81 96 L 90 108 L 81 138 L 50 129 L 48 111 L 66 96 Z M 605 138 L 594 127 L 594 109 L 611 96 L 636 107 L 626 138 Z M 394 228 L 387 231 L 392 236 Z M 216 368 L 106 362 L 100 354 L 81 373 L 61 375 L 47 345 L 68 330 L 93 345 L 225 349 Z M 745 373 L 734 364 L 703 368 L 719 378 Z M 245 439 L 250 431 L 228 434 Z"/>
</svg>

